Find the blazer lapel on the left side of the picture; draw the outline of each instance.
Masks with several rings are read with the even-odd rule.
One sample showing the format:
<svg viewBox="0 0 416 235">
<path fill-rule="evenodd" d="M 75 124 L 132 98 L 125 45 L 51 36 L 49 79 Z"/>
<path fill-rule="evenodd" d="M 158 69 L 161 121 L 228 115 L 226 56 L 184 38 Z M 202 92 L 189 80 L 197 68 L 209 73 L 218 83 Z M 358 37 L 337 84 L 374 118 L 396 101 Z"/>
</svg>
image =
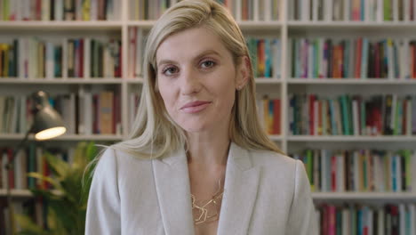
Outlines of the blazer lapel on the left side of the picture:
<svg viewBox="0 0 416 235">
<path fill-rule="evenodd" d="M 194 235 L 187 158 L 184 150 L 153 160 L 157 199 L 166 235 Z"/>
</svg>

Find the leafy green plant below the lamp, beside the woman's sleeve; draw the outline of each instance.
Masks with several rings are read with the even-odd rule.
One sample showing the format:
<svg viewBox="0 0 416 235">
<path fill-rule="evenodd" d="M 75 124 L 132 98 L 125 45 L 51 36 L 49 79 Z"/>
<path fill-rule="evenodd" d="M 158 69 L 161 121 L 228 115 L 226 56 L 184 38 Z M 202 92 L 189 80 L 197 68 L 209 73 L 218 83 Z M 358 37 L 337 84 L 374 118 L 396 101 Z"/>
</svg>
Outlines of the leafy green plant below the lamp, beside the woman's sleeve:
<svg viewBox="0 0 416 235">
<path fill-rule="evenodd" d="M 36 197 L 46 201 L 48 230 L 34 223 L 28 215 L 15 215 L 20 225 L 20 235 L 79 235 L 84 234 L 88 191 L 91 185 L 92 167 L 86 167 L 97 155 L 93 142 L 80 142 L 76 146 L 74 161 L 68 164 L 45 153 L 45 158 L 53 177 L 39 173 L 29 173 L 29 177 L 49 182 L 52 190 L 33 189 Z M 83 183 L 84 182 L 84 183 Z"/>
</svg>

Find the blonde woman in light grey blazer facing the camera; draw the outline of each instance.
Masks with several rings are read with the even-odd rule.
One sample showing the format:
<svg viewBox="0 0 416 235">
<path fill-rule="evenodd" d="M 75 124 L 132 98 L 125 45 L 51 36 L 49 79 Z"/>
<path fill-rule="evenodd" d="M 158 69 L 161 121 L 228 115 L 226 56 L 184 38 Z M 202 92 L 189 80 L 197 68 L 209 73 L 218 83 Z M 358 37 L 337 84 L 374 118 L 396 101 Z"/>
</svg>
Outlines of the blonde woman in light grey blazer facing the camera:
<svg viewBox="0 0 416 235">
<path fill-rule="evenodd" d="M 156 21 L 128 141 L 101 156 L 86 234 L 317 234 L 303 164 L 256 116 L 244 36 L 220 4 Z"/>
</svg>

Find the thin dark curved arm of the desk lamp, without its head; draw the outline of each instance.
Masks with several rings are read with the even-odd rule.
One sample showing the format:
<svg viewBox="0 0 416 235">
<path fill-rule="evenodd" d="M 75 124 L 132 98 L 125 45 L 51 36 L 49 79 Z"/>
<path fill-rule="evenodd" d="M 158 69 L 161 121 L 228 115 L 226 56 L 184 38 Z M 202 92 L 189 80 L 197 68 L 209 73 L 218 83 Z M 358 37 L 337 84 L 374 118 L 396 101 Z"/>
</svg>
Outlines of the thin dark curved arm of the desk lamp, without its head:
<svg viewBox="0 0 416 235">
<path fill-rule="evenodd" d="M 16 158 L 17 153 L 19 152 L 20 149 L 22 149 L 26 143 L 28 142 L 28 135 L 30 133 L 32 133 L 34 126 L 30 126 L 30 129 L 28 130 L 28 132 L 25 134 L 25 137 L 18 143 L 16 149 L 13 151 L 12 154 L 12 158 L 9 159 L 7 161 L 7 164 L 5 165 L 5 170 L 6 170 L 6 177 L 7 177 L 7 207 L 9 207 L 9 221 L 10 221 L 10 225 L 11 225 L 11 229 L 12 229 L 12 234 L 16 233 L 16 224 L 14 223 L 14 211 L 13 211 L 13 207 L 12 207 L 12 188 L 10 185 L 10 180 L 9 180 L 9 176 L 10 176 L 10 171 L 12 170 L 12 166 L 13 166 L 13 162 L 14 162 L 14 158 Z"/>
</svg>

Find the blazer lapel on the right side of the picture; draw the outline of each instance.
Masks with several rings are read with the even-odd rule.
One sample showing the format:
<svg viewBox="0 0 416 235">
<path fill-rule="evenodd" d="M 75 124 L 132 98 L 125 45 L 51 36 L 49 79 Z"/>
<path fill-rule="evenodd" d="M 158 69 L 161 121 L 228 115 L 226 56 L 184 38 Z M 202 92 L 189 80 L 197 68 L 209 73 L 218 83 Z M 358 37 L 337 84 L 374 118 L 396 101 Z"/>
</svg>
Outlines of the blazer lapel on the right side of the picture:
<svg viewBox="0 0 416 235">
<path fill-rule="evenodd" d="M 247 234 L 259 180 L 260 167 L 253 167 L 248 151 L 231 142 L 218 235 Z"/>
</svg>

